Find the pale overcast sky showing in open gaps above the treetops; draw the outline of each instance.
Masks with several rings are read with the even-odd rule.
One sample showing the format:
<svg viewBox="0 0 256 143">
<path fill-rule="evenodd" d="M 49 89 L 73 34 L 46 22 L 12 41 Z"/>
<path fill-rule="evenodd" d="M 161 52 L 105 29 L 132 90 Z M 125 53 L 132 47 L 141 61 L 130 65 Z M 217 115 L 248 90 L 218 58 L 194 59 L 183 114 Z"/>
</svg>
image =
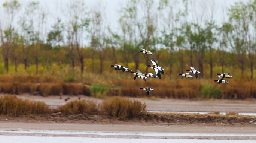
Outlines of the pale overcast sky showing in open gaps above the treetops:
<svg viewBox="0 0 256 143">
<path fill-rule="evenodd" d="M 5 1 L 9 0 L 0 0 L 0 15 L 3 13 L 2 5 Z M 25 7 L 31 0 L 18 0 L 19 3 L 21 3 L 22 7 Z M 39 0 L 40 5 L 44 7 L 46 12 L 48 13 L 47 18 L 47 25 L 48 25 L 48 31 L 51 29 L 51 25 L 56 22 L 56 19 L 58 17 L 61 17 L 62 19 L 65 19 L 65 11 L 67 11 L 67 5 L 72 0 Z M 119 10 L 122 6 L 125 5 L 127 0 L 83 0 L 86 6 L 89 9 L 92 9 L 96 7 L 96 5 L 100 4 L 101 7 L 104 7 L 104 19 L 106 20 L 107 24 L 113 29 L 113 31 L 118 31 L 118 19 L 120 17 Z M 159 0 L 154 0 L 157 4 Z M 179 1 L 179 0 L 177 0 Z M 180 0 L 182 1 L 182 0 Z M 193 0 L 194 1 L 194 0 Z M 212 4 L 212 1 L 216 4 L 216 12 L 214 15 L 214 20 L 217 23 L 221 23 L 223 20 L 223 15 L 226 15 L 226 12 L 223 13 L 223 9 L 227 10 L 228 7 L 231 4 L 234 4 L 235 2 L 241 1 L 241 0 L 208 0 L 209 3 L 208 6 L 205 6 L 205 4 L 202 4 L 203 2 L 207 0 L 197 0 L 197 4 L 195 6 L 190 7 L 189 9 L 192 11 L 196 11 L 197 13 L 202 13 L 202 9 L 205 9 L 205 7 L 209 7 L 209 5 Z M 247 1 L 247 0 L 243 0 Z M 179 9 L 179 7 L 176 7 Z M 193 18 L 192 14 L 193 12 L 190 11 L 189 13 L 189 19 L 195 20 Z M 20 15 L 22 13 L 20 12 Z M 1 16 L 3 17 L 3 16 Z M 0 18 L 0 20 L 4 21 L 4 18 Z"/>
</svg>

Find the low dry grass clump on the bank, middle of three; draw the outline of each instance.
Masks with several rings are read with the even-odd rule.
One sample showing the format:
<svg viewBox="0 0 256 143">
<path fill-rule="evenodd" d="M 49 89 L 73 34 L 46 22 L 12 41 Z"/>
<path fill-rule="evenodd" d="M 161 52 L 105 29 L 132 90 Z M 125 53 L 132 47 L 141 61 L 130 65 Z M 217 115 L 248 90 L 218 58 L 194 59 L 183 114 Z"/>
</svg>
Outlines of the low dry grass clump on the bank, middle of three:
<svg viewBox="0 0 256 143">
<path fill-rule="evenodd" d="M 97 114 L 98 113 L 98 105 L 96 102 L 93 101 L 70 101 L 67 102 L 65 105 L 59 107 L 59 111 L 62 113 L 69 113 L 69 114 Z"/>
</svg>

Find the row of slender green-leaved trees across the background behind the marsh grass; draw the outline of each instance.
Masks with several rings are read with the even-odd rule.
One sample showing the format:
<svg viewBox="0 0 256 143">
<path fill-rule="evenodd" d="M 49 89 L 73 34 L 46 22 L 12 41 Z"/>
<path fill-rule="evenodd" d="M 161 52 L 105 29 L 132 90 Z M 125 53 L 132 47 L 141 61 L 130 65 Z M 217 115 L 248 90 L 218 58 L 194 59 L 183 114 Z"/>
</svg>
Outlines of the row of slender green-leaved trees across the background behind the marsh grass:
<svg viewBox="0 0 256 143">
<path fill-rule="evenodd" d="M 195 7 L 200 4 L 201 7 Z M 256 50 L 256 0 L 240 1 L 223 8 L 218 14 L 214 1 L 127 0 L 118 9 L 117 27 L 105 19 L 101 4 L 89 8 L 82 0 L 73 0 L 64 7 L 49 28 L 47 10 L 39 1 L 21 5 L 18 0 L 2 5 L 0 21 L 1 52 L 8 73 L 9 61 L 15 65 L 50 66 L 69 64 L 85 71 L 85 59 L 91 59 L 86 70 L 103 73 L 106 62 L 150 64 L 149 56 L 140 56 L 140 48 L 154 53 L 154 58 L 170 74 L 187 66 L 209 71 L 214 67 L 250 69 L 253 78 Z M 198 11 L 196 11 L 198 10 Z M 226 15 L 225 15 L 226 13 Z M 221 17 L 223 20 L 217 20 Z M 95 61 L 99 61 L 95 65 Z M 95 67 L 100 68 L 96 71 Z M 207 68 L 205 68 L 207 67 Z M 166 69 L 166 68 L 165 68 Z M 146 72 L 147 69 L 146 69 Z M 204 77 L 202 74 L 201 77 Z"/>
</svg>

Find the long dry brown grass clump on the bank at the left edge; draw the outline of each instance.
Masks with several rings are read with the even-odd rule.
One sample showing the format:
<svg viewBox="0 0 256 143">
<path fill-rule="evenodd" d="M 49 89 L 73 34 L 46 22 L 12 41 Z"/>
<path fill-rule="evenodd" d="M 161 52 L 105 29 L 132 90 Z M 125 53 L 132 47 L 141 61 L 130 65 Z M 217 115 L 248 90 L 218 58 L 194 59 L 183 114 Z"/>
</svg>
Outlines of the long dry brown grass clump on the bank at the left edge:
<svg viewBox="0 0 256 143">
<path fill-rule="evenodd" d="M 49 112 L 51 111 L 45 102 L 21 99 L 14 95 L 0 97 L 0 114 L 17 116 L 24 114 L 44 114 Z"/>
</svg>

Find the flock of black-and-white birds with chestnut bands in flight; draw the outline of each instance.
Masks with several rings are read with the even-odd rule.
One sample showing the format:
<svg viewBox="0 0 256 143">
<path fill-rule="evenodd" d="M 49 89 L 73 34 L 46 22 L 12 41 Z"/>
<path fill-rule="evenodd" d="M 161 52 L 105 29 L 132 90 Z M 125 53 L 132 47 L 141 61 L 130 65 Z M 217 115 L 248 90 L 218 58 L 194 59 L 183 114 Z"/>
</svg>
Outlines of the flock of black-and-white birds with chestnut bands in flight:
<svg viewBox="0 0 256 143">
<path fill-rule="evenodd" d="M 143 54 L 147 54 L 147 55 L 153 55 L 153 53 L 151 51 L 147 51 L 145 49 L 141 49 L 138 52 L 143 53 Z M 145 75 L 145 74 L 142 73 L 141 70 L 136 70 L 136 72 L 134 72 L 134 71 L 130 70 L 129 68 L 121 66 L 119 64 L 114 64 L 114 65 L 111 65 L 110 67 L 114 67 L 115 70 L 122 70 L 123 72 L 132 73 L 134 75 L 134 77 L 133 77 L 134 80 L 136 80 L 137 78 L 140 78 L 140 79 L 143 79 L 144 81 L 146 81 L 148 78 L 157 78 L 157 77 L 159 79 L 161 79 L 161 74 L 164 75 L 164 69 L 162 67 L 158 66 L 158 64 L 156 63 L 156 61 L 153 58 L 151 58 L 151 62 L 153 64 L 153 66 L 147 65 L 146 67 L 149 67 L 149 68 L 155 70 L 156 75 L 152 74 L 152 73 L 147 73 Z M 194 68 L 194 67 L 190 67 L 190 68 L 191 68 L 191 70 L 186 70 L 186 72 L 193 73 L 195 75 L 195 77 L 198 78 L 198 74 L 201 73 L 201 72 L 196 70 L 196 68 Z M 177 75 L 187 77 L 187 78 L 191 78 L 193 76 L 190 73 L 179 73 Z M 224 80 L 224 78 L 232 78 L 232 76 L 230 76 L 230 74 L 232 74 L 232 73 L 222 73 L 222 74 L 217 73 L 216 76 L 219 77 L 219 80 L 213 80 L 213 82 L 217 82 L 219 84 L 220 83 L 229 83 L 226 80 Z M 139 88 L 139 89 L 142 89 L 142 90 L 146 91 L 147 95 L 149 95 L 149 92 L 155 91 L 154 89 L 148 88 L 148 87 Z"/>
</svg>

